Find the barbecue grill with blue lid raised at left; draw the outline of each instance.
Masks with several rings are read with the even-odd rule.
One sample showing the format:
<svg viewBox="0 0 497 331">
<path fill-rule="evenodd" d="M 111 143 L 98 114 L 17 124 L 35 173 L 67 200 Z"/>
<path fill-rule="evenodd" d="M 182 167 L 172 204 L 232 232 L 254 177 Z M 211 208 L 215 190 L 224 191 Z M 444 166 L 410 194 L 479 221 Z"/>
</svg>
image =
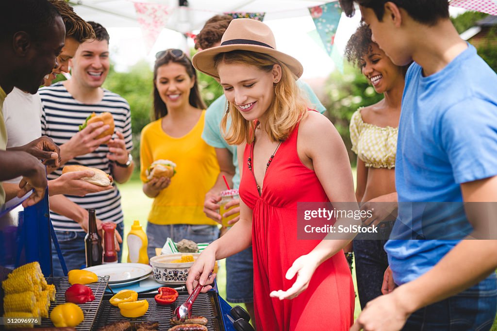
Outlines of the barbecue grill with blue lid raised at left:
<svg viewBox="0 0 497 331">
<path fill-rule="evenodd" d="M 65 292 L 71 286 L 68 277 L 48 277 L 52 273 L 52 254 L 51 254 L 51 229 L 50 218 L 48 214 L 48 193 L 45 198 L 38 204 L 28 207 L 24 210 L 23 217 L 19 220 L 6 221 L 5 216 L 19 205 L 24 199 L 13 199 L 8 206 L 0 208 L 0 234 L 3 236 L 4 243 L 10 243 L 5 236 L 9 234 L 15 245 L 4 246 L 3 256 L 0 257 L 0 281 L 5 279 L 7 272 L 15 266 L 22 265 L 31 261 L 39 261 L 47 283 L 54 284 L 57 289 L 56 302 L 50 305 L 51 312 L 57 305 L 65 303 Z M 13 230 L 12 230 L 13 229 Z M 9 237 L 9 238 L 10 238 Z M 6 268 L 4 268 L 6 267 Z M 3 271 L 3 273 L 1 273 Z M 87 284 L 95 296 L 95 300 L 79 305 L 84 314 L 84 321 L 76 328 L 78 331 L 92 331 L 98 328 L 125 319 L 121 316 L 119 308 L 109 303 L 111 295 L 105 294 L 109 277 L 98 277 L 98 282 Z M 146 299 L 149 302 L 147 313 L 136 319 L 127 319 L 133 322 L 155 321 L 159 322 L 159 330 L 167 330 L 171 327 L 169 319 L 176 308 L 181 305 L 188 297 L 187 292 L 179 292 L 179 297 L 175 303 L 169 306 L 160 306 L 155 302 L 156 293 L 139 293 L 138 299 Z M 0 313 L 3 307 L 3 293 L 0 288 Z M 232 307 L 221 298 L 216 290 L 200 293 L 193 305 L 193 315 L 207 318 L 209 331 L 237 331 L 250 329 L 236 329 L 235 321 L 239 318 L 235 313 L 231 314 Z M 231 316 L 235 315 L 235 316 Z M 235 321 L 235 322 L 234 322 Z M 245 321 L 242 321 L 245 322 Z M 53 327 L 50 319 L 42 319 L 41 325 L 35 325 L 35 331 L 38 327 Z M 0 326 L 0 329 L 2 326 Z"/>
</svg>

